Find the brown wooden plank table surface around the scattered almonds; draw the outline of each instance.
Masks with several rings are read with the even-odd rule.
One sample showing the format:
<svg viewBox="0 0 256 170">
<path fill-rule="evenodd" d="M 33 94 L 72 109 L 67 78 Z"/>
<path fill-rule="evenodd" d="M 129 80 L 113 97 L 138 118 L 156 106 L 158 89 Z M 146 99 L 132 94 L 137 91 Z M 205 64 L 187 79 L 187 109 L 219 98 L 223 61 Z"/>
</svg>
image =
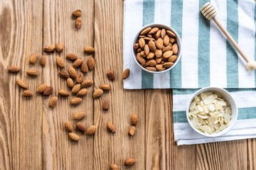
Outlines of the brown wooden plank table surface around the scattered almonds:
<svg viewBox="0 0 256 170">
<path fill-rule="evenodd" d="M 76 29 L 71 13 L 82 9 L 82 28 Z M 0 2 L 0 169 L 256 169 L 256 140 L 218 142 L 177 147 L 171 116 L 171 90 L 124 90 L 122 85 L 122 0 L 44 0 Z M 136 18 L 134 18 L 136 19 Z M 28 63 L 29 55 L 43 55 L 44 45 L 62 42 L 63 52 L 47 54 L 46 67 Z M 49 97 L 21 96 L 16 79 L 24 79 L 31 91 L 39 84 L 51 84 L 53 96 L 68 90 L 58 76 L 55 57 L 76 53 L 86 59 L 83 47 L 93 46 L 95 69 L 85 75 L 95 84 L 77 107 L 69 98 L 59 98 L 55 108 L 48 107 Z M 70 66 L 72 62 L 65 60 Z M 9 74 L 7 68 L 18 65 L 22 71 Z M 28 69 L 39 76 L 26 76 Z M 109 81 L 107 69 L 114 70 Z M 111 91 L 92 99 L 93 89 L 110 84 Z M 102 99 L 110 99 L 110 110 L 102 111 Z M 97 126 L 94 136 L 80 135 L 71 142 L 63 123 L 73 113 L 85 111 L 82 123 Z M 134 137 L 127 135 L 132 113 L 139 115 Z M 117 128 L 107 131 L 107 121 Z M 127 158 L 136 164 L 124 167 Z"/>
</svg>

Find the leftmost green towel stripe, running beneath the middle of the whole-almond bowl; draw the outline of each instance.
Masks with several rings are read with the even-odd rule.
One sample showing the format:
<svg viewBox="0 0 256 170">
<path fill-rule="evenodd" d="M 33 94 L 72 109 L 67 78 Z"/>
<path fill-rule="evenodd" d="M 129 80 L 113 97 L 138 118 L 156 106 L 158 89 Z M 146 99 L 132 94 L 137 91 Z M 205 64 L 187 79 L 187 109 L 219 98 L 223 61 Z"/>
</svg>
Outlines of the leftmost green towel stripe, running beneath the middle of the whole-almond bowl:
<svg viewBox="0 0 256 170">
<path fill-rule="evenodd" d="M 154 23 L 154 0 L 143 1 L 143 26 L 149 23 Z M 149 72 L 142 70 L 142 89 L 153 89 L 154 88 L 154 76 Z"/>
</svg>

